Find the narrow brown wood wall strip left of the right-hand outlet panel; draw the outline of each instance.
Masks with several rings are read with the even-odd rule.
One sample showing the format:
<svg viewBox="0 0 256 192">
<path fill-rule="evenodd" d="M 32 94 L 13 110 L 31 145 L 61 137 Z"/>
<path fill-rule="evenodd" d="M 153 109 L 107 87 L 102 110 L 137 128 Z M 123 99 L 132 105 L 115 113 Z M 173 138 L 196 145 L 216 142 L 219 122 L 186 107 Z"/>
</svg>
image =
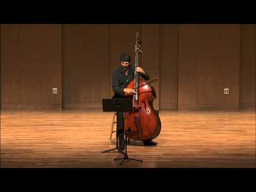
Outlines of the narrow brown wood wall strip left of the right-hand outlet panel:
<svg viewBox="0 0 256 192">
<path fill-rule="evenodd" d="M 178 109 L 178 25 L 160 28 L 160 108 Z"/>
</svg>

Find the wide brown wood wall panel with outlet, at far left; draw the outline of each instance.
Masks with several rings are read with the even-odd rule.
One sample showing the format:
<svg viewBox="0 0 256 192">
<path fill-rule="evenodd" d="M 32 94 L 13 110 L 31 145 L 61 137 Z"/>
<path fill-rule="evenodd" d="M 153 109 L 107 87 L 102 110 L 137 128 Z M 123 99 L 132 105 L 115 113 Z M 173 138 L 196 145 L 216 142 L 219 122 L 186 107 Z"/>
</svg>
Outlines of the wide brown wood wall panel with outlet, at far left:
<svg viewBox="0 0 256 192">
<path fill-rule="evenodd" d="M 1 109 L 62 108 L 61 47 L 61 25 L 1 26 Z"/>
</svg>

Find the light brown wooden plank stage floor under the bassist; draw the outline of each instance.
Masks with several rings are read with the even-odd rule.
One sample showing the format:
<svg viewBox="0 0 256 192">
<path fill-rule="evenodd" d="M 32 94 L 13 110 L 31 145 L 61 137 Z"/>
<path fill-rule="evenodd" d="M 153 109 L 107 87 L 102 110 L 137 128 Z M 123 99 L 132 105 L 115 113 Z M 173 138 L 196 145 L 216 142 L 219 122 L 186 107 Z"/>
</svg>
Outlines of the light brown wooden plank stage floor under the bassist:
<svg viewBox="0 0 256 192">
<path fill-rule="evenodd" d="M 162 130 L 145 147 L 131 141 L 130 158 L 114 158 L 113 113 L 100 110 L 1 111 L 1 167 L 256 167 L 255 111 L 159 113 Z"/>
</svg>

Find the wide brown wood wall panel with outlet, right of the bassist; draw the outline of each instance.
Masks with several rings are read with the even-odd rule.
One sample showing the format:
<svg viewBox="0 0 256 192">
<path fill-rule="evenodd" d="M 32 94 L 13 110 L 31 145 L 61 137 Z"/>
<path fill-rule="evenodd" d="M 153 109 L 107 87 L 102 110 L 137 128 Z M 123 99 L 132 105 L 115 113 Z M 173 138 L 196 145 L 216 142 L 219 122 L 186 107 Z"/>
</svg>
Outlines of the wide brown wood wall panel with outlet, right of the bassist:
<svg viewBox="0 0 256 192">
<path fill-rule="evenodd" d="M 239 64 L 239 25 L 180 25 L 178 108 L 238 109 Z"/>
</svg>

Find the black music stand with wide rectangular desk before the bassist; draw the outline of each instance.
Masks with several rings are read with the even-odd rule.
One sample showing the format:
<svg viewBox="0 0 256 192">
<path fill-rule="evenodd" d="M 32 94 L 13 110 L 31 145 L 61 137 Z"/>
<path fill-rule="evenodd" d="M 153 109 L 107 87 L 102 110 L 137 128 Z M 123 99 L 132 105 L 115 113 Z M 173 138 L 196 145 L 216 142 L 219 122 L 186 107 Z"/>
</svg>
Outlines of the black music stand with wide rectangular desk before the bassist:
<svg viewBox="0 0 256 192">
<path fill-rule="evenodd" d="M 132 102 L 130 99 L 102 99 L 102 109 L 103 112 L 126 112 L 126 111 L 132 111 Z M 117 121 L 119 119 L 119 113 L 117 115 Z M 118 126 L 118 122 L 116 121 L 116 124 Z M 124 127 L 124 126 L 123 126 Z M 109 149 L 102 151 L 102 153 L 106 153 L 112 150 L 118 150 L 119 153 L 124 154 L 122 150 L 118 148 L 118 134 L 116 130 L 116 148 Z"/>
</svg>

